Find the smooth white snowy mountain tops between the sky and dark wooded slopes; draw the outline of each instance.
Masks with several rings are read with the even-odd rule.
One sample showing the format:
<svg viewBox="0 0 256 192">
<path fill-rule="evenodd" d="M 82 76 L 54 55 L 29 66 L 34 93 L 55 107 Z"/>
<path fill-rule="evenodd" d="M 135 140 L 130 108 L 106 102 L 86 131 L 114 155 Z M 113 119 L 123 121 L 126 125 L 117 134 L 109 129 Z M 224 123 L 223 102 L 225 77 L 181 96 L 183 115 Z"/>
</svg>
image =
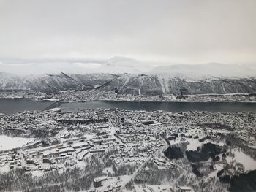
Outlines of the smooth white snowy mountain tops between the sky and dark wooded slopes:
<svg viewBox="0 0 256 192">
<path fill-rule="evenodd" d="M 18 75 L 37 74 L 168 74 L 170 77 L 256 77 L 255 64 L 161 64 L 145 63 L 132 58 L 115 57 L 102 61 L 49 60 L 4 61 L 0 71 Z"/>
</svg>

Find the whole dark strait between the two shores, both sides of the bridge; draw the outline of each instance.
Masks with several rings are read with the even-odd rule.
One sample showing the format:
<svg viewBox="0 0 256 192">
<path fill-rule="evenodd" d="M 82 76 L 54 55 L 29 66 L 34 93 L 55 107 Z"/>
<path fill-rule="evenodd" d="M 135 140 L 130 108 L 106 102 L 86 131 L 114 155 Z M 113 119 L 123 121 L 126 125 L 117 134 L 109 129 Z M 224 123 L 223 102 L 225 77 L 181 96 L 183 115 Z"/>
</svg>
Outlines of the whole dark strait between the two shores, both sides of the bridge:
<svg viewBox="0 0 256 192">
<path fill-rule="evenodd" d="M 0 112 L 12 114 L 24 110 L 44 110 L 53 104 L 52 101 L 31 101 L 27 99 L 0 99 Z M 256 112 L 256 103 L 240 102 L 165 102 L 165 101 L 89 101 L 64 103 L 60 106 L 64 111 L 78 111 L 97 108 L 119 108 L 124 110 L 164 110 L 184 112 L 189 110 L 208 112 Z"/>
</svg>

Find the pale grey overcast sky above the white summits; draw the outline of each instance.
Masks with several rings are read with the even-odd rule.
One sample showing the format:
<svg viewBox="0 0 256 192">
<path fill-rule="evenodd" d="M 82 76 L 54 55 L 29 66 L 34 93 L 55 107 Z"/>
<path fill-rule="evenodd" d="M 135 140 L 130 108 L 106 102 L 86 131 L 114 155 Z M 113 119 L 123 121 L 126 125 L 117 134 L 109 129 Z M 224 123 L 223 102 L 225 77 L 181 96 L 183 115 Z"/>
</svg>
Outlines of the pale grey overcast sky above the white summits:
<svg viewBox="0 0 256 192">
<path fill-rule="evenodd" d="M 255 63 L 255 10 L 255 0 L 0 0 L 0 61 Z"/>
</svg>

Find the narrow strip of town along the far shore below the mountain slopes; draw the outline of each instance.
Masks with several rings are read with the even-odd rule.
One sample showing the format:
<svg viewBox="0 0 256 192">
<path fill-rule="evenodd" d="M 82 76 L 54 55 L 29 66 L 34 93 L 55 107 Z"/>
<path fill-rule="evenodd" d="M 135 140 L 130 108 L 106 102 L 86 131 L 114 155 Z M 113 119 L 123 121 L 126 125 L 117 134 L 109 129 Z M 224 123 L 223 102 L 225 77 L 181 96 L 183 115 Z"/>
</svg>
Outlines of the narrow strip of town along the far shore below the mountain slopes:
<svg viewBox="0 0 256 192">
<path fill-rule="evenodd" d="M 42 93 L 31 90 L 7 91 L 0 90 L 0 99 L 31 99 L 36 101 L 95 101 L 95 100 L 110 100 L 110 101 L 187 101 L 187 102 L 255 102 L 256 93 L 227 93 L 227 94 L 194 94 L 189 95 L 181 93 L 180 95 L 173 94 L 154 94 L 146 95 L 138 93 L 115 93 L 115 91 L 107 90 L 67 90 L 57 93 Z"/>
</svg>

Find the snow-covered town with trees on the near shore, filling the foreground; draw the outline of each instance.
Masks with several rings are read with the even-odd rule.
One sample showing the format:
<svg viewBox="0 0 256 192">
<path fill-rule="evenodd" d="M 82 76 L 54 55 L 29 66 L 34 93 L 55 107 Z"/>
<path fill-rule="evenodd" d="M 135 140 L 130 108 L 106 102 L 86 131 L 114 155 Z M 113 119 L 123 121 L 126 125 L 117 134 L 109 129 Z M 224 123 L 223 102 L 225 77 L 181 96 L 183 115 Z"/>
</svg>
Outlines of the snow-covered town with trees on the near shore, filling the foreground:
<svg viewBox="0 0 256 192">
<path fill-rule="evenodd" d="M 255 119 L 104 108 L 2 115 L 0 135 L 29 142 L 0 143 L 0 191 L 236 191 L 256 172 Z"/>
</svg>

